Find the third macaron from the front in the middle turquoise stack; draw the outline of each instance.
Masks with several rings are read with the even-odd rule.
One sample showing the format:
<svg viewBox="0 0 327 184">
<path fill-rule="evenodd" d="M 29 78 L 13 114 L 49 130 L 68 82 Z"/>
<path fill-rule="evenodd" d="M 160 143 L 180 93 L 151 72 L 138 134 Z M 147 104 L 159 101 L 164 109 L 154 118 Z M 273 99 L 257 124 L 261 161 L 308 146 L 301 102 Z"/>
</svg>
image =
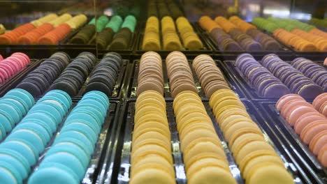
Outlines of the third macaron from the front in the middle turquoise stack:
<svg viewBox="0 0 327 184">
<path fill-rule="evenodd" d="M 22 139 L 19 140 L 10 140 L 10 141 L 3 141 L 0 144 L 0 148 L 8 148 L 12 149 L 13 151 L 17 151 L 21 154 L 22 157 L 26 158 L 29 162 L 29 165 L 34 165 L 36 160 L 38 159 L 38 152 L 36 148 L 29 144 L 29 142 L 24 141 Z"/>
</svg>

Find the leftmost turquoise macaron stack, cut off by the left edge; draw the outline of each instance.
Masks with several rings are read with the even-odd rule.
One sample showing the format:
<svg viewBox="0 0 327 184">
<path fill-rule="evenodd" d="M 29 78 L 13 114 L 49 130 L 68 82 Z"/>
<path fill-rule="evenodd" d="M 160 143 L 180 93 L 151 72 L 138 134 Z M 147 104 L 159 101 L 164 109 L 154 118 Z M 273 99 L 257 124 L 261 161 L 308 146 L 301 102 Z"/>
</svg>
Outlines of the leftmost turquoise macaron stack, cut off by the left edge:
<svg viewBox="0 0 327 184">
<path fill-rule="evenodd" d="M 15 128 L 33 105 L 33 96 L 21 89 L 12 89 L 0 98 L 0 141 Z"/>
</svg>

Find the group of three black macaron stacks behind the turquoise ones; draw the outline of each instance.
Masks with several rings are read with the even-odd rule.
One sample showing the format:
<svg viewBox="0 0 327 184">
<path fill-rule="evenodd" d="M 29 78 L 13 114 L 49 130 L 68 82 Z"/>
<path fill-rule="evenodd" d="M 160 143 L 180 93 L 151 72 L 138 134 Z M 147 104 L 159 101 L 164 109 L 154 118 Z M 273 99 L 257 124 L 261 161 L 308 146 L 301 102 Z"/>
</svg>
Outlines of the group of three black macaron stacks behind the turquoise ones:
<svg viewBox="0 0 327 184">
<path fill-rule="evenodd" d="M 121 67 L 122 57 L 115 52 L 105 54 L 100 62 L 90 52 L 82 52 L 72 61 L 68 54 L 57 52 L 29 72 L 16 88 L 29 91 L 33 96 L 52 89 L 74 96 L 78 95 L 89 77 L 85 93 L 98 90 L 110 96 Z"/>
</svg>

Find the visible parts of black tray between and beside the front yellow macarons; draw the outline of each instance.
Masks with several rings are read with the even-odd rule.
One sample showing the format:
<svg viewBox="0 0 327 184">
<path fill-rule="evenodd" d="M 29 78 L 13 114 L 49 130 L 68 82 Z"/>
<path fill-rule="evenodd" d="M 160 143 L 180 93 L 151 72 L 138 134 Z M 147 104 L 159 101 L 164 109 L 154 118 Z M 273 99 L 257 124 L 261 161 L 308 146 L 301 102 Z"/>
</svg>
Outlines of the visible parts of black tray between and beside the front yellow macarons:
<svg viewBox="0 0 327 184">
<path fill-rule="evenodd" d="M 110 171 L 112 175 L 107 174 L 106 182 L 105 183 L 128 183 L 129 182 L 129 170 L 130 170 L 130 153 L 131 153 L 131 135 L 133 134 L 133 116 L 134 116 L 134 105 L 135 100 L 128 100 L 124 104 L 123 110 L 124 114 L 119 121 L 119 126 L 117 128 L 117 132 L 119 132 L 115 137 L 115 144 L 114 150 L 112 152 L 112 162 L 108 163 L 110 166 Z M 270 145 L 275 148 L 276 153 L 282 158 L 283 162 L 285 163 L 285 167 L 290 171 L 294 178 L 294 183 L 303 183 L 306 181 L 304 178 L 306 177 L 305 174 L 299 175 L 297 164 L 293 164 L 293 160 L 291 160 L 287 153 L 287 150 L 284 150 L 284 145 L 282 147 L 279 145 L 280 141 L 276 137 L 270 137 L 266 132 L 266 128 L 261 126 L 261 115 L 256 112 L 256 108 L 249 100 L 242 100 L 242 102 L 247 107 L 247 110 L 252 116 L 254 122 L 256 122 L 261 130 L 263 131 L 263 135 L 268 141 Z M 212 123 L 215 126 L 215 130 L 219 139 L 221 140 L 221 144 L 224 147 L 224 151 L 226 153 L 228 163 L 230 165 L 231 173 L 233 174 L 234 178 L 236 179 L 237 183 L 244 183 L 242 177 L 240 176 L 240 170 L 238 166 L 235 164 L 233 160 L 233 156 L 231 151 L 228 149 L 228 143 L 223 137 L 221 130 L 219 129 L 217 122 L 215 121 L 215 116 L 212 114 L 212 110 L 210 109 L 208 101 L 203 101 L 205 108 L 207 109 L 208 115 L 212 119 Z M 186 175 L 184 172 L 184 163 L 182 160 L 182 153 L 180 152 L 180 145 L 179 145 L 179 138 L 178 132 L 176 130 L 175 124 L 175 116 L 173 114 L 173 102 L 171 100 L 166 100 L 167 105 L 167 116 L 168 116 L 168 123 L 171 132 L 171 143 L 172 143 L 172 151 L 173 151 L 173 160 L 174 160 L 174 168 L 176 172 L 176 182 L 177 183 L 187 183 Z M 279 145 L 279 146 L 277 146 Z M 282 152 L 283 151 L 283 152 Z M 303 174 L 303 173 L 302 173 Z"/>
</svg>

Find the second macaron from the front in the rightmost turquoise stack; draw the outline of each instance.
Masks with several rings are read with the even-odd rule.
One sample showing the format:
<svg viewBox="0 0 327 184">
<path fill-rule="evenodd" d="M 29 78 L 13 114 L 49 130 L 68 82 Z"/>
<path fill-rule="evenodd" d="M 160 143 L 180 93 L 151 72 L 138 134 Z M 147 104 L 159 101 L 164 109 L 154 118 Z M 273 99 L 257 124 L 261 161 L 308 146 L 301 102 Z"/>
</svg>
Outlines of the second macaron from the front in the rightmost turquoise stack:
<svg viewBox="0 0 327 184">
<path fill-rule="evenodd" d="M 55 162 L 59 164 L 64 164 L 67 167 L 69 167 L 72 171 L 75 172 L 75 174 L 78 176 L 80 180 L 82 180 L 83 176 L 85 175 L 85 167 L 83 167 L 82 162 L 78 160 L 75 155 L 68 153 L 68 152 L 58 152 L 53 153 L 51 155 L 47 155 L 43 161 L 42 164 L 48 163 L 48 162 Z"/>
</svg>

